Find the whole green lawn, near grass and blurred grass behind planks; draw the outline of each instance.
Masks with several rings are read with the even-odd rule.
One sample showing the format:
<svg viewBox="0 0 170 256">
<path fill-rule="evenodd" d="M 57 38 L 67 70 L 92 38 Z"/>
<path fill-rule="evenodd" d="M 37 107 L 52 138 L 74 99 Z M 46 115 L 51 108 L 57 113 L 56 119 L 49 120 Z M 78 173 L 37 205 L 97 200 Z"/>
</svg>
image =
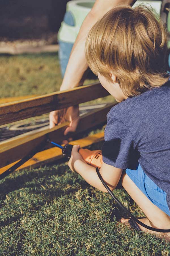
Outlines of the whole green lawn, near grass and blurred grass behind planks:
<svg viewBox="0 0 170 256">
<path fill-rule="evenodd" d="M 61 84 L 57 54 L 3 55 L 0 63 L 2 97 L 45 94 Z M 142 216 L 124 189 L 114 194 Z M 72 173 L 67 163 L 14 172 L 0 181 L 0 204 L 3 256 L 170 255 L 168 242 L 116 226 L 116 218 L 126 217 L 117 204 Z"/>
</svg>

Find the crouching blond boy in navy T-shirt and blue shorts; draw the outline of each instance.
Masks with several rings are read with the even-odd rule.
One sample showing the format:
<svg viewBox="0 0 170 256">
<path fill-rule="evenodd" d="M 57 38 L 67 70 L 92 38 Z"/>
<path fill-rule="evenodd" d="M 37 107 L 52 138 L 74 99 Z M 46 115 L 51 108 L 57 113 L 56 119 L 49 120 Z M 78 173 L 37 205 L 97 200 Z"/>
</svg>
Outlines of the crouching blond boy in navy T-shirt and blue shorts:
<svg viewBox="0 0 170 256">
<path fill-rule="evenodd" d="M 107 115 L 101 176 L 113 190 L 123 187 L 146 215 L 141 221 L 170 228 L 170 82 L 166 74 L 167 34 L 144 6 L 120 5 L 90 30 L 86 58 L 103 87 L 119 104 Z M 74 146 L 69 167 L 107 192 L 95 168 Z M 127 220 L 121 219 L 122 223 Z M 137 229 L 170 241 L 170 233 Z"/>
</svg>

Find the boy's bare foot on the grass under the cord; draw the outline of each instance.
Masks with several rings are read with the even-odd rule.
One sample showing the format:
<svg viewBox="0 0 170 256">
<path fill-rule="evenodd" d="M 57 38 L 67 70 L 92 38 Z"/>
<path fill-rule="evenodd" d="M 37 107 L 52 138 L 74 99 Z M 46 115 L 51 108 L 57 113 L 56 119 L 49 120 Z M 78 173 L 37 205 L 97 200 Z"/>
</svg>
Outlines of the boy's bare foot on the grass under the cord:
<svg viewBox="0 0 170 256">
<path fill-rule="evenodd" d="M 130 224 L 128 222 L 129 219 L 124 219 L 124 218 L 121 218 L 119 223 L 122 223 L 124 225 L 127 225 L 130 227 Z M 152 222 L 150 222 L 148 220 L 148 218 L 143 218 L 143 219 L 140 219 L 141 222 L 143 222 L 144 224 L 146 224 L 147 226 L 150 226 L 150 227 L 153 227 L 153 228 L 162 228 L 162 229 L 168 229 L 170 227 L 166 226 L 166 227 L 157 227 L 155 226 Z M 137 225 L 140 227 L 141 231 L 145 232 L 145 233 L 150 233 L 150 234 L 153 234 L 155 236 L 157 236 L 158 238 L 162 238 L 162 239 L 165 239 L 167 241 L 170 241 L 170 233 L 161 233 L 161 232 L 156 232 L 156 231 L 152 231 L 152 230 L 149 230 L 147 228 L 144 228 L 143 226 L 141 226 L 140 224 L 137 223 Z"/>
</svg>

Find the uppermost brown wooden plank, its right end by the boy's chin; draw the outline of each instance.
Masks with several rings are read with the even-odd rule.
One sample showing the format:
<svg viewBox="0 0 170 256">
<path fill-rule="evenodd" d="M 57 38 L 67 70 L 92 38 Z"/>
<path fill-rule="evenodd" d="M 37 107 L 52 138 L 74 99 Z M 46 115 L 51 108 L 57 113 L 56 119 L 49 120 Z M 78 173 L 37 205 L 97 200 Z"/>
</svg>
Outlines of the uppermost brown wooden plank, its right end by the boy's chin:
<svg viewBox="0 0 170 256">
<path fill-rule="evenodd" d="M 0 125 L 109 95 L 100 83 L 0 105 Z"/>
</svg>

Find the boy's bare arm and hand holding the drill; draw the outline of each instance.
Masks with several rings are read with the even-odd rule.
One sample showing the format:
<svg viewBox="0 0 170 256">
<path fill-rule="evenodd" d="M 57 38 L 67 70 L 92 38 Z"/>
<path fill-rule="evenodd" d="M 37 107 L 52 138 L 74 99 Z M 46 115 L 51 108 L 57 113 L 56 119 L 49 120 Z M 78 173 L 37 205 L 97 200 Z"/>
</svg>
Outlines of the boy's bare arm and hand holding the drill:
<svg viewBox="0 0 170 256">
<path fill-rule="evenodd" d="M 72 155 L 69 160 L 69 167 L 71 170 L 80 174 L 93 187 L 103 192 L 107 192 L 97 175 L 95 167 L 86 164 L 78 153 L 78 149 L 78 146 L 73 146 Z M 113 190 L 120 180 L 122 169 L 103 163 L 100 169 L 100 174 L 108 187 Z"/>
</svg>

